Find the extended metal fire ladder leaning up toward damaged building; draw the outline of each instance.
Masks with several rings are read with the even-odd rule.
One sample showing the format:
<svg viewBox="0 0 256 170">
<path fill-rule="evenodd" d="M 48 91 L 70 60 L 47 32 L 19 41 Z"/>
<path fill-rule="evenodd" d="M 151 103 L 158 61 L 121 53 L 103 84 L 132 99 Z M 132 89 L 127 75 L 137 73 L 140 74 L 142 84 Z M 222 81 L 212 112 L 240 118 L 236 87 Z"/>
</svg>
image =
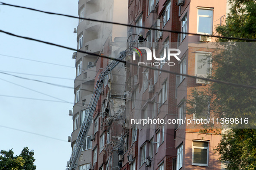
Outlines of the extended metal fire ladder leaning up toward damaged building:
<svg viewBox="0 0 256 170">
<path fill-rule="evenodd" d="M 81 129 L 78 133 L 78 138 L 77 138 L 77 140 L 76 140 L 76 142 L 73 146 L 72 154 L 71 154 L 70 160 L 67 164 L 66 170 L 76 170 L 76 168 L 78 167 L 79 156 L 81 154 L 84 142 L 86 140 L 86 136 L 88 134 L 88 131 L 89 131 L 90 126 L 91 126 L 91 122 L 93 120 L 93 113 L 96 109 L 97 102 L 100 98 L 103 83 L 105 82 L 105 79 L 106 79 L 107 75 L 120 63 L 120 60 L 123 60 L 125 57 L 126 57 L 126 50 L 121 52 L 117 56 L 117 58 L 116 58 L 117 60 L 113 60 L 100 73 L 100 75 L 97 79 L 97 83 L 96 83 L 95 88 L 94 88 L 93 95 L 91 97 L 90 104 L 88 105 L 88 109 L 87 109 L 87 113 L 86 113 L 88 115 L 87 120 L 84 120 L 83 124 L 81 125 Z"/>
</svg>

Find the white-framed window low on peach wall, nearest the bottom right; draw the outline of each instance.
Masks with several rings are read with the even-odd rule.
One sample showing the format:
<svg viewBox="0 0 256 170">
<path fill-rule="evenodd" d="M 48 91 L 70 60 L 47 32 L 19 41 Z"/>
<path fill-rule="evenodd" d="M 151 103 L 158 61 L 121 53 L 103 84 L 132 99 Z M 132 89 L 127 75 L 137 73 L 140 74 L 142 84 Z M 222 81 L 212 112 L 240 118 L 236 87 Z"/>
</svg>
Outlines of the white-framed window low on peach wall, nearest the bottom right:
<svg viewBox="0 0 256 170">
<path fill-rule="evenodd" d="M 209 141 L 193 140 L 192 165 L 208 166 Z"/>
</svg>

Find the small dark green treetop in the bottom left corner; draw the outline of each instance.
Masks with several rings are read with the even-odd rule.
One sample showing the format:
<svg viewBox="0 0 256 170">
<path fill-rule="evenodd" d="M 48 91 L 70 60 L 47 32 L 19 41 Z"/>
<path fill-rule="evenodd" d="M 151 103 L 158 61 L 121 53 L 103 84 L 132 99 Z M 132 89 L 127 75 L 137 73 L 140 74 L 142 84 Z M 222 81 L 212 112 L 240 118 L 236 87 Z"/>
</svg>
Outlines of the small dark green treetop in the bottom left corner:
<svg viewBox="0 0 256 170">
<path fill-rule="evenodd" d="M 0 170 L 36 170 L 34 165 L 34 151 L 23 148 L 19 156 L 13 156 L 13 151 L 0 151 Z"/>
</svg>

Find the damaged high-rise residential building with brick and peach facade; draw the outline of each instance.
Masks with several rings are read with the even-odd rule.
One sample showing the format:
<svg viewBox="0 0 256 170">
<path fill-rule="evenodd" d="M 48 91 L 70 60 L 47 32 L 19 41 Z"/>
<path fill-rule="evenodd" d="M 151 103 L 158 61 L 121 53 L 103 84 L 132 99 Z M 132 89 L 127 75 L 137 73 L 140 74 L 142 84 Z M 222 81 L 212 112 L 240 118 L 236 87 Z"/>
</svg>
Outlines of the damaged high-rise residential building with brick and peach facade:
<svg viewBox="0 0 256 170">
<path fill-rule="evenodd" d="M 126 61 L 135 65 L 119 63 L 106 77 L 78 161 L 78 170 L 224 168 L 217 160 L 219 156 L 213 154 L 221 139 L 220 133 L 210 131 L 204 134 L 201 126 L 186 126 L 176 121 L 197 119 L 196 115 L 186 114 L 186 100 L 191 98 L 194 88 L 203 90 L 207 82 L 170 72 L 198 77 L 211 73 L 210 60 L 214 53 L 211 42 L 215 39 L 207 35 L 215 35 L 215 27 L 224 23 L 227 1 L 79 0 L 78 4 L 80 17 L 127 21 L 128 25 L 205 35 L 79 20 L 78 49 L 115 58 L 128 48 Z M 142 36 L 146 40 L 138 41 Z M 142 49 L 138 54 L 134 52 L 140 47 L 147 47 L 156 57 L 149 61 L 146 50 Z M 177 49 L 181 52 L 178 57 L 168 57 L 170 53 L 177 53 Z M 201 60 L 206 62 L 203 64 Z M 87 117 L 85 110 L 97 78 L 110 62 L 101 57 L 76 54 L 72 148 L 79 127 Z M 139 62 L 155 69 L 140 67 Z M 207 109 L 208 118 L 211 113 Z M 143 125 L 143 122 L 134 122 L 133 119 L 164 120 L 164 123 Z M 167 123 L 168 120 L 176 122 Z"/>
</svg>

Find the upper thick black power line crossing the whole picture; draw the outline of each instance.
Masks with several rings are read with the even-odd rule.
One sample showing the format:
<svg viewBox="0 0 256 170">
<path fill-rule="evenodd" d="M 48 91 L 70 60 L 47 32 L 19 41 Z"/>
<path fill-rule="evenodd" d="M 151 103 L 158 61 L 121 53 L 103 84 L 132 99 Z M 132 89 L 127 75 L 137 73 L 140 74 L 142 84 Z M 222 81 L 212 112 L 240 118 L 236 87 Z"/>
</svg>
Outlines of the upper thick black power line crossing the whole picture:
<svg viewBox="0 0 256 170">
<path fill-rule="evenodd" d="M 81 17 L 78 17 L 78 16 L 71 16 L 71 15 L 66 15 L 66 14 L 61 14 L 61 13 L 46 12 L 46 11 L 42 11 L 42 10 L 39 10 L 39 9 L 34 9 L 34 8 L 25 7 L 25 6 L 12 5 L 12 4 L 3 3 L 3 2 L 0 2 L 0 3 L 2 3 L 2 4 L 0 4 L 0 5 L 13 6 L 13 7 L 18 7 L 18 8 L 23 8 L 23 9 L 29 9 L 29 10 L 37 11 L 37 12 L 41 12 L 41 13 L 47 13 L 47 14 L 58 15 L 58 16 L 67 16 L 67 17 L 70 17 L 70 18 L 84 19 L 84 20 L 93 21 L 93 22 L 102 22 L 102 23 L 108 23 L 108 24 L 115 24 L 115 25 L 123 25 L 123 26 L 128 26 L 128 27 L 134 27 L 134 28 L 151 29 L 151 30 L 156 30 L 156 31 L 166 31 L 166 32 L 172 32 L 172 33 L 176 33 L 176 34 L 189 34 L 189 35 L 201 35 L 201 36 L 205 36 L 204 34 L 183 32 L 183 31 L 174 31 L 174 30 L 159 29 L 159 28 L 150 28 L 150 27 L 129 25 L 129 24 L 123 24 L 123 23 L 119 23 L 119 22 L 110 22 L 110 21 L 103 21 L 103 20 L 97 20 L 97 19 L 81 18 Z M 256 39 L 224 37 L 224 36 L 219 36 L 219 35 L 207 35 L 207 36 L 208 36 L 208 37 L 215 37 L 215 38 L 226 38 L 226 39 L 231 39 L 231 40 L 256 41 Z"/>
</svg>

